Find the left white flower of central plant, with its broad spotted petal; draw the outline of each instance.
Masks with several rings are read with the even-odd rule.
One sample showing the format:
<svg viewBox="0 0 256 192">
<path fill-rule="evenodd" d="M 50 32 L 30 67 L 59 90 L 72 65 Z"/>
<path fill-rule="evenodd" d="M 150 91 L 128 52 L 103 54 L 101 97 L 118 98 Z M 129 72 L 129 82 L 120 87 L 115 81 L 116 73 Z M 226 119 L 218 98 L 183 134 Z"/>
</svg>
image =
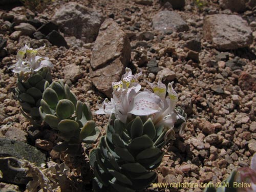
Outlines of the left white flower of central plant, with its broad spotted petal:
<svg viewBox="0 0 256 192">
<path fill-rule="evenodd" d="M 119 82 L 112 82 L 113 98 L 111 101 L 105 99 L 102 107 L 96 111 L 96 114 L 115 113 L 116 118 L 123 123 L 129 116 L 133 115 L 151 115 L 157 113 L 161 99 L 154 93 L 141 92 L 141 86 L 135 83 L 138 76 L 132 75 L 129 68 Z M 130 87 L 132 86 L 132 87 Z"/>
</svg>

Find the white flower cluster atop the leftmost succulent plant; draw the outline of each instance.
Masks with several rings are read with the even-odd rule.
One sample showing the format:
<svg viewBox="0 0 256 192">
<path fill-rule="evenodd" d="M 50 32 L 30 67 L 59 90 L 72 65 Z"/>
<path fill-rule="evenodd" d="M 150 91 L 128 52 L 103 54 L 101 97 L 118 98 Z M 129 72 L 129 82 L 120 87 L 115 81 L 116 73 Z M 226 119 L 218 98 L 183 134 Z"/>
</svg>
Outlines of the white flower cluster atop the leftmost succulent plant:
<svg viewBox="0 0 256 192">
<path fill-rule="evenodd" d="M 9 67 L 14 73 L 37 72 L 43 67 L 53 68 L 52 62 L 48 57 L 37 56 L 38 50 L 44 49 L 45 46 L 38 49 L 30 48 L 30 45 L 25 45 L 17 53 L 17 62 Z M 26 55 L 26 57 L 25 57 Z"/>
</svg>

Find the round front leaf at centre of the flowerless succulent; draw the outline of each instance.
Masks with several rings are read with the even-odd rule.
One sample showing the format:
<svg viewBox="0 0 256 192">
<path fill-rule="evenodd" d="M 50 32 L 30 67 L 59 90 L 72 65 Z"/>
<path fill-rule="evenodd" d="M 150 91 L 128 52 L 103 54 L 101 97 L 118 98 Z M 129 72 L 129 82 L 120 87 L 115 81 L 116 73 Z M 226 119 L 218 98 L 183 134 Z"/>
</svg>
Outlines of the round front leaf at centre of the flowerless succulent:
<svg viewBox="0 0 256 192">
<path fill-rule="evenodd" d="M 56 114 L 60 119 L 69 119 L 75 111 L 74 104 L 68 99 L 61 99 L 56 106 Z"/>
</svg>

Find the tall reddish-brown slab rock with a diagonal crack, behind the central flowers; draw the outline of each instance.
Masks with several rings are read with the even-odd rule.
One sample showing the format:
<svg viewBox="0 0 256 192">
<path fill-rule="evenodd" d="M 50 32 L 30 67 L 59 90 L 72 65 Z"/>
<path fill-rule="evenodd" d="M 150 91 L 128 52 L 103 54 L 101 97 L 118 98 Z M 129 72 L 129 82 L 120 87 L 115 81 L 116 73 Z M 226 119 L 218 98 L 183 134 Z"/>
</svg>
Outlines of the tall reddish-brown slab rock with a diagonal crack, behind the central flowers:
<svg viewBox="0 0 256 192">
<path fill-rule="evenodd" d="M 111 83 L 121 79 L 130 58 L 131 46 L 126 34 L 113 19 L 106 19 L 92 50 L 90 77 L 95 87 L 112 97 Z"/>
</svg>

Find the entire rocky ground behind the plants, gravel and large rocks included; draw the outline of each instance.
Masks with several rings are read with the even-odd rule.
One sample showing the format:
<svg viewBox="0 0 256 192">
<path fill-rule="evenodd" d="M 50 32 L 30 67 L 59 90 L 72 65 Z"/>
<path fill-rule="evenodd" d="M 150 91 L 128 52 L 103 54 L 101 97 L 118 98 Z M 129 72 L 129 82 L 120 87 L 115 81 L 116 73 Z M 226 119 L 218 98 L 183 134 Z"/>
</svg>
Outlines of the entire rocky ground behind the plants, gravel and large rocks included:
<svg viewBox="0 0 256 192">
<path fill-rule="evenodd" d="M 248 166 L 256 152 L 256 3 L 230 2 L 55 0 L 42 12 L 25 7 L 1 10 L 0 156 L 39 165 L 69 161 L 52 150 L 58 142 L 53 130 L 34 129 L 19 112 L 17 77 L 8 67 L 16 63 L 17 50 L 29 43 L 33 48 L 46 44 L 40 53 L 54 64 L 53 80 L 64 79 L 93 111 L 97 101 L 111 97 L 111 82 L 120 79 L 126 66 L 143 72 L 144 88 L 149 89 L 143 78 L 153 82 L 163 76 L 166 84 L 175 82 L 187 126 L 164 148 L 156 183 L 200 186 L 223 181 L 234 168 Z M 104 134 L 108 117 L 95 115 L 95 121 Z M 15 144 L 28 148 L 29 154 L 20 153 Z M 85 157 L 77 160 L 80 168 L 70 165 L 71 181 L 82 186 L 80 191 L 91 189 L 87 161 L 96 145 L 84 146 Z M 24 191 L 27 182 L 24 174 L 4 177 L 0 188 Z"/>
</svg>

